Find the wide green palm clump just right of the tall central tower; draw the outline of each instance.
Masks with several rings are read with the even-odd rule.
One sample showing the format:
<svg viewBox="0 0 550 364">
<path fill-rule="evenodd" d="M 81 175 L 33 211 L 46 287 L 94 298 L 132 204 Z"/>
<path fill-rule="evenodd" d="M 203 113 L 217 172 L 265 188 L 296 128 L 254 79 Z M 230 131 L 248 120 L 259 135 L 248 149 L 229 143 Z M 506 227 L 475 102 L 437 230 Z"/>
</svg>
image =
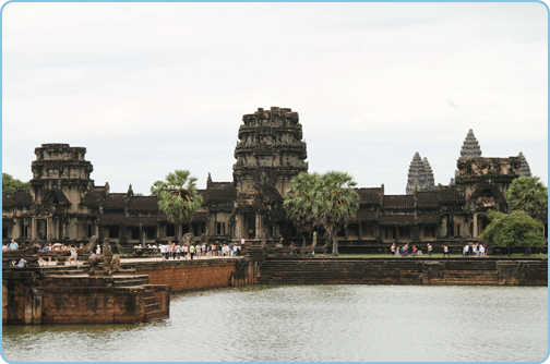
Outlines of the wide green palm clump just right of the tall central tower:
<svg viewBox="0 0 550 364">
<path fill-rule="evenodd" d="M 354 218 L 359 209 L 356 182 L 347 173 L 327 172 L 323 175 L 302 172 L 292 179 L 284 206 L 300 227 L 322 226 L 333 243 L 333 256 L 338 256 L 336 232 Z"/>
</svg>

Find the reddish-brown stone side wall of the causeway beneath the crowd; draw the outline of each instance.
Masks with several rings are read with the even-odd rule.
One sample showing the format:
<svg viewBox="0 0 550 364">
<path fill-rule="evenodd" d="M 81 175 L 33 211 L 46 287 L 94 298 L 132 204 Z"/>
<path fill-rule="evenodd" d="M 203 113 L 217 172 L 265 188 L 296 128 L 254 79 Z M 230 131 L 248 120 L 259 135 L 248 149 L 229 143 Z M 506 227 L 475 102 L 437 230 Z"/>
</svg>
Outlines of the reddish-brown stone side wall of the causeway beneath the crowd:
<svg viewBox="0 0 550 364">
<path fill-rule="evenodd" d="M 124 264 L 151 284 L 169 284 L 172 293 L 256 283 L 260 264 L 253 259 L 194 259 Z"/>
</svg>

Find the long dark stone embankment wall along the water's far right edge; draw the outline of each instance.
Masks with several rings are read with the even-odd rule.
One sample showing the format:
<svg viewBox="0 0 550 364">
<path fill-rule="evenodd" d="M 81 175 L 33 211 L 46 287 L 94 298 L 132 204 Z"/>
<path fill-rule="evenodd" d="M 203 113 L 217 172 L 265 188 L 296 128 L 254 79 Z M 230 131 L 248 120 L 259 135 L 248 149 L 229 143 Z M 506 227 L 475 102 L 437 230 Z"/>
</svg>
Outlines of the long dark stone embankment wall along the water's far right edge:
<svg viewBox="0 0 550 364">
<path fill-rule="evenodd" d="M 548 286 L 547 259 L 270 257 L 260 272 L 260 284 Z"/>
</svg>

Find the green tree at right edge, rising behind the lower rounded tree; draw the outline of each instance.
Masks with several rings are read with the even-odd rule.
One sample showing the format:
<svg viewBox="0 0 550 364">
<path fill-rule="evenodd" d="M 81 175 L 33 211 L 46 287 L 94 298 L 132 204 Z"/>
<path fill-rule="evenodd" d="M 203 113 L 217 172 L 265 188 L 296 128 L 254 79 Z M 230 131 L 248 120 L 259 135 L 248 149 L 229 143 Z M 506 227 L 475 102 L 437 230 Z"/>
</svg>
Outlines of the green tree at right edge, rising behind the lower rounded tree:
<svg viewBox="0 0 550 364">
<path fill-rule="evenodd" d="M 523 210 L 539 219 L 548 209 L 548 187 L 538 177 L 518 177 L 506 192 L 506 202 L 511 210 Z"/>
</svg>

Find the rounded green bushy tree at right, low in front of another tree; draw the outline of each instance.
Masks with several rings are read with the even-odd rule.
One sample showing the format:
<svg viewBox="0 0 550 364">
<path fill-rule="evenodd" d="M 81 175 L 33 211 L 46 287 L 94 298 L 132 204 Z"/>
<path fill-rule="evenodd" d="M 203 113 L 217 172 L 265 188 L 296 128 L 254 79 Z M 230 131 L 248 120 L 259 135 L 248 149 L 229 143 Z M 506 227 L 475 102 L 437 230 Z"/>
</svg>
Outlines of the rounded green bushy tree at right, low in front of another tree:
<svg viewBox="0 0 550 364">
<path fill-rule="evenodd" d="M 543 226 L 523 210 L 511 214 L 489 211 L 491 222 L 479 235 L 488 243 L 507 246 L 509 254 L 513 247 L 545 246 Z"/>
</svg>

